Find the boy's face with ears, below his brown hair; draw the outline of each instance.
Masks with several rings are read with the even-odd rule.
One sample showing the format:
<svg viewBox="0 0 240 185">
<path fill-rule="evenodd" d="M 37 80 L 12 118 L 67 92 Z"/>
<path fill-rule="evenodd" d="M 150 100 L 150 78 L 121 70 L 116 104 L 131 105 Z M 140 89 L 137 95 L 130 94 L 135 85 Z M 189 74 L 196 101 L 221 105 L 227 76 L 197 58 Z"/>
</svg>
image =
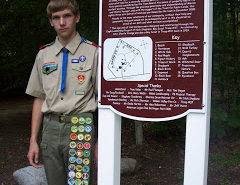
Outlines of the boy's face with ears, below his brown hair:
<svg viewBox="0 0 240 185">
<path fill-rule="evenodd" d="M 76 23 L 80 20 L 80 15 L 74 16 L 70 9 L 52 13 L 49 18 L 50 24 L 54 27 L 57 35 L 62 41 L 70 41 L 76 35 Z"/>
</svg>

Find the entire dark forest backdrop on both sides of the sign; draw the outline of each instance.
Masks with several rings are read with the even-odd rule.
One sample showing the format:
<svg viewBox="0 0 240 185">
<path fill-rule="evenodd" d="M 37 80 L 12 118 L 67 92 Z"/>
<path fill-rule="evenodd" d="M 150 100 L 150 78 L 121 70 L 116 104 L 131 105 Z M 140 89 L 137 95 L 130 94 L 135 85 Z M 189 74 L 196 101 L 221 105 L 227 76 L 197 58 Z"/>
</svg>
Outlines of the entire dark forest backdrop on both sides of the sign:
<svg viewBox="0 0 240 185">
<path fill-rule="evenodd" d="M 0 1 L 1 97 L 24 94 L 38 48 L 55 39 L 46 16 L 47 3 L 48 0 Z M 77 29 L 98 43 L 99 1 L 79 4 L 84 16 Z M 239 0 L 214 0 L 211 137 L 240 133 L 239 7 Z M 167 133 L 169 126 L 153 123 L 150 128 Z"/>
</svg>

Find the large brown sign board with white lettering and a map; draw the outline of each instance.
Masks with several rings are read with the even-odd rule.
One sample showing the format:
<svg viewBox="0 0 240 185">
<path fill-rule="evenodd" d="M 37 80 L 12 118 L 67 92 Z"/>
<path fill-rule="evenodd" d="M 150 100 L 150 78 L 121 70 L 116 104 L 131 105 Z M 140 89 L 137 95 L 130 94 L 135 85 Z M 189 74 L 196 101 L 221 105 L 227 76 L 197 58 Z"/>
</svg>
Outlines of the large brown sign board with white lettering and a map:
<svg viewBox="0 0 240 185">
<path fill-rule="evenodd" d="M 202 109 L 204 1 L 103 0 L 101 106 L 139 118 Z"/>
</svg>

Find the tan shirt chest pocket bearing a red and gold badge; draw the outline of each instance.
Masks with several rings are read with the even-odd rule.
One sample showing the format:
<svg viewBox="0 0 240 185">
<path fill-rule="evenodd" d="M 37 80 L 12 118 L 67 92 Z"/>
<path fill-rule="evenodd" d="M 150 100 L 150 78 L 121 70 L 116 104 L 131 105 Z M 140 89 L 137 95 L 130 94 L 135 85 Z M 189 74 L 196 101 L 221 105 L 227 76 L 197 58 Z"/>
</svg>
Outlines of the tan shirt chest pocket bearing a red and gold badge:
<svg viewBox="0 0 240 185">
<path fill-rule="evenodd" d="M 72 66 L 72 82 L 74 89 L 86 90 L 91 84 L 92 67 Z"/>
</svg>

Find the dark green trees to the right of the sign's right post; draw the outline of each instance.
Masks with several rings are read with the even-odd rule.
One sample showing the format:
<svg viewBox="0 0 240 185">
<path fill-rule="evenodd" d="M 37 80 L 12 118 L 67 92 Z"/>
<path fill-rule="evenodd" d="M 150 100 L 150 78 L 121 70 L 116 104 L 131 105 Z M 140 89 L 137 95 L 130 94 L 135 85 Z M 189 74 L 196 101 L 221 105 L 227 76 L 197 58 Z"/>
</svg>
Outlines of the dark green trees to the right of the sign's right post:
<svg viewBox="0 0 240 185">
<path fill-rule="evenodd" d="M 217 138 L 240 129 L 239 7 L 238 0 L 214 0 L 211 136 Z"/>
</svg>

